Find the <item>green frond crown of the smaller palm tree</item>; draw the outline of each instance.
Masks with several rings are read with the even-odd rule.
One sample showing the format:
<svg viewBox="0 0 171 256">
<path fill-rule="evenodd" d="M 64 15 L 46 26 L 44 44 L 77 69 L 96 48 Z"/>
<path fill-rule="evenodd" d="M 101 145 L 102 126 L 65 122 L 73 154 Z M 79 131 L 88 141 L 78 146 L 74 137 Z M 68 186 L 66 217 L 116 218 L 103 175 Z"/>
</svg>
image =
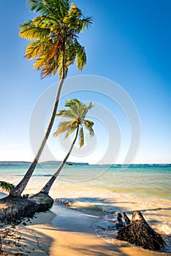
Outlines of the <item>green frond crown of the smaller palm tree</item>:
<svg viewBox="0 0 171 256">
<path fill-rule="evenodd" d="M 58 130 L 54 133 L 54 136 L 58 136 L 59 134 L 65 132 L 65 138 L 68 138 L 72 132 L 79 129 L 79 145 L 80 148 L 84 145 L 84 132 L 83 128 L 85 127 L 89 135 L 94 135 L 94 122 L 86 119 L 86 115 L 88 110 L 93 107 L 93 103 L 90 102 L 88 105 L 83 104 L 78 99 L 68 99 L 65 103 L 65 107 L 68 109 L 60 110 L 56 116 L 61 116 L 65 118 L 72 119 L 71 121 L 61 121 L 58 124 Z"/>
</svg>

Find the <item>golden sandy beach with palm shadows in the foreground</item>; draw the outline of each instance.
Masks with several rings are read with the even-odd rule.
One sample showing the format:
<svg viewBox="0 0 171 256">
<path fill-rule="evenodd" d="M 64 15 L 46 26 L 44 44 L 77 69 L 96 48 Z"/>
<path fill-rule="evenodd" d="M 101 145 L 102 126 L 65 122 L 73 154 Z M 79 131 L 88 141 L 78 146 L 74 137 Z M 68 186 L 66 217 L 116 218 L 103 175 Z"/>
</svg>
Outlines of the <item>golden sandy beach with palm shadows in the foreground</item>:
<svg viewBox="0 0 171 256">
<path fill-rule="evenodd" d="M 25 219 L 20 225 L 1 227 L 1 255 L 166 255 L 123 246 L 119 241 L 117 245 L 107 243 L 94 233 L 96 218 L 55 203 L 52 211 Z"/>
</svg>

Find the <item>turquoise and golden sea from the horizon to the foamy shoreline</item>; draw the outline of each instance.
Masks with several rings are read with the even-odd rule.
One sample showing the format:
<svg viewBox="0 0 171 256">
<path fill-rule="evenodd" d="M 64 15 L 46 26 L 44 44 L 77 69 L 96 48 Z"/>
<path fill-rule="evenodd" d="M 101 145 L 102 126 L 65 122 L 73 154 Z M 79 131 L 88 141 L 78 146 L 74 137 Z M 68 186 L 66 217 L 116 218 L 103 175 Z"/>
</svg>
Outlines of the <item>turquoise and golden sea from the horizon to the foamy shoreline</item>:
<svg viewBox="0 0 171 256">
<path fill-rule="evenodd" d="M 45 185 L 58 166 L 39 165 L 26 187 L 34 194 Z M 0 180 L 18 184 L 28 166 L 0 166 Z M 117 244 L 115 236 L 118 212 L 131 218 L 141 211 L 145 220 L 163 236 L 171 252 L 171 165 L 71 165 L 61 170 L 50 190 L 58 203 L 75 211 L 96 212 L 97 236 Z M 127 245 L 129 246 L 129 245 Z"/>
</svg>

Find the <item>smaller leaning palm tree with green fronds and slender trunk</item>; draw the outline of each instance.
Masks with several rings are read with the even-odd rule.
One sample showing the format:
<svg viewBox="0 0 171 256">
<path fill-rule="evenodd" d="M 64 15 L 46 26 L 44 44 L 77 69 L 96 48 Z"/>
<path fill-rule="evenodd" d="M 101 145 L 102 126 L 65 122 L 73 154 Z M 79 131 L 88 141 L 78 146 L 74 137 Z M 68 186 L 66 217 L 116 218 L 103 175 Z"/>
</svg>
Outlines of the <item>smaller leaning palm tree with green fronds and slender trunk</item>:
<svg viewBox="0 0 171 256">
<path fill-rule="evenodd" d="M 54 136 L 57 137 L 59 134 L 65 132 L 65 138 L 68 138 L 69 135 L 72 134 L 72 132 L 76 131 L 75 138 L 72 142 L 71 147 L 69 148 L 68 154 L 66 154 L 66 157 L 61 162 L 61 165 L 59 165 L 58 169 L 56 170 L 56 173 L 53 174 L 50 180 L 47 181 L 47 184 L 45 184 L 45 186 L 40 191 L 45 194 L 49 193 L 50 188 L 53 185 L 53 182 L 56 180 L 62 168 L 64 167 L 66 160 L 68 159 L 69 154 L 71 153 L 72 148 L 75 145 L 77 137 L 79 137 L 80 148 L 84 145 L 83 128 L 85 127 L 88 130 L 90 136 L 94 135 L 94 130 L 92 128 L 94 122 L 86 119 L 88 110 L 90 110 L 93 107 L 92 102 L 90 102 L 88 105 L 85 105 L 81 103 L 78 99 L 69 99 L 66 101 L 65 106 L 68 107 L 68 109 L 60 110 L 60 112 L 56 116 L 66 117 L 71 119 L 71 121 L 61 121 L 58 124 L 58 130 L 54 133 Z"/>
</svg>

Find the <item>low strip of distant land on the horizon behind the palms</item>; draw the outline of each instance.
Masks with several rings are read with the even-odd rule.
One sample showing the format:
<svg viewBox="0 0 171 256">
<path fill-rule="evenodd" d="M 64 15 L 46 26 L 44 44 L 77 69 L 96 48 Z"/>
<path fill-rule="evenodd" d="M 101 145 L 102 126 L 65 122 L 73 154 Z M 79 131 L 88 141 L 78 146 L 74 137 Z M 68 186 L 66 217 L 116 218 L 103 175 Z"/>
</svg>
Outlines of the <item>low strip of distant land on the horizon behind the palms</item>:
<svg viewBox="0 0 171 256">
<path fill-rule="evenodd" d="M 46 161 L 39 162 L 38 165 L 60 165 L 61 161 Z M 26 161 L 0 161 L 0 166 L 12 165 L 31 165 L 31 162 Z M 89 165 L 88 162 L 66 162 L 66 165 Z"/>
</svg>

